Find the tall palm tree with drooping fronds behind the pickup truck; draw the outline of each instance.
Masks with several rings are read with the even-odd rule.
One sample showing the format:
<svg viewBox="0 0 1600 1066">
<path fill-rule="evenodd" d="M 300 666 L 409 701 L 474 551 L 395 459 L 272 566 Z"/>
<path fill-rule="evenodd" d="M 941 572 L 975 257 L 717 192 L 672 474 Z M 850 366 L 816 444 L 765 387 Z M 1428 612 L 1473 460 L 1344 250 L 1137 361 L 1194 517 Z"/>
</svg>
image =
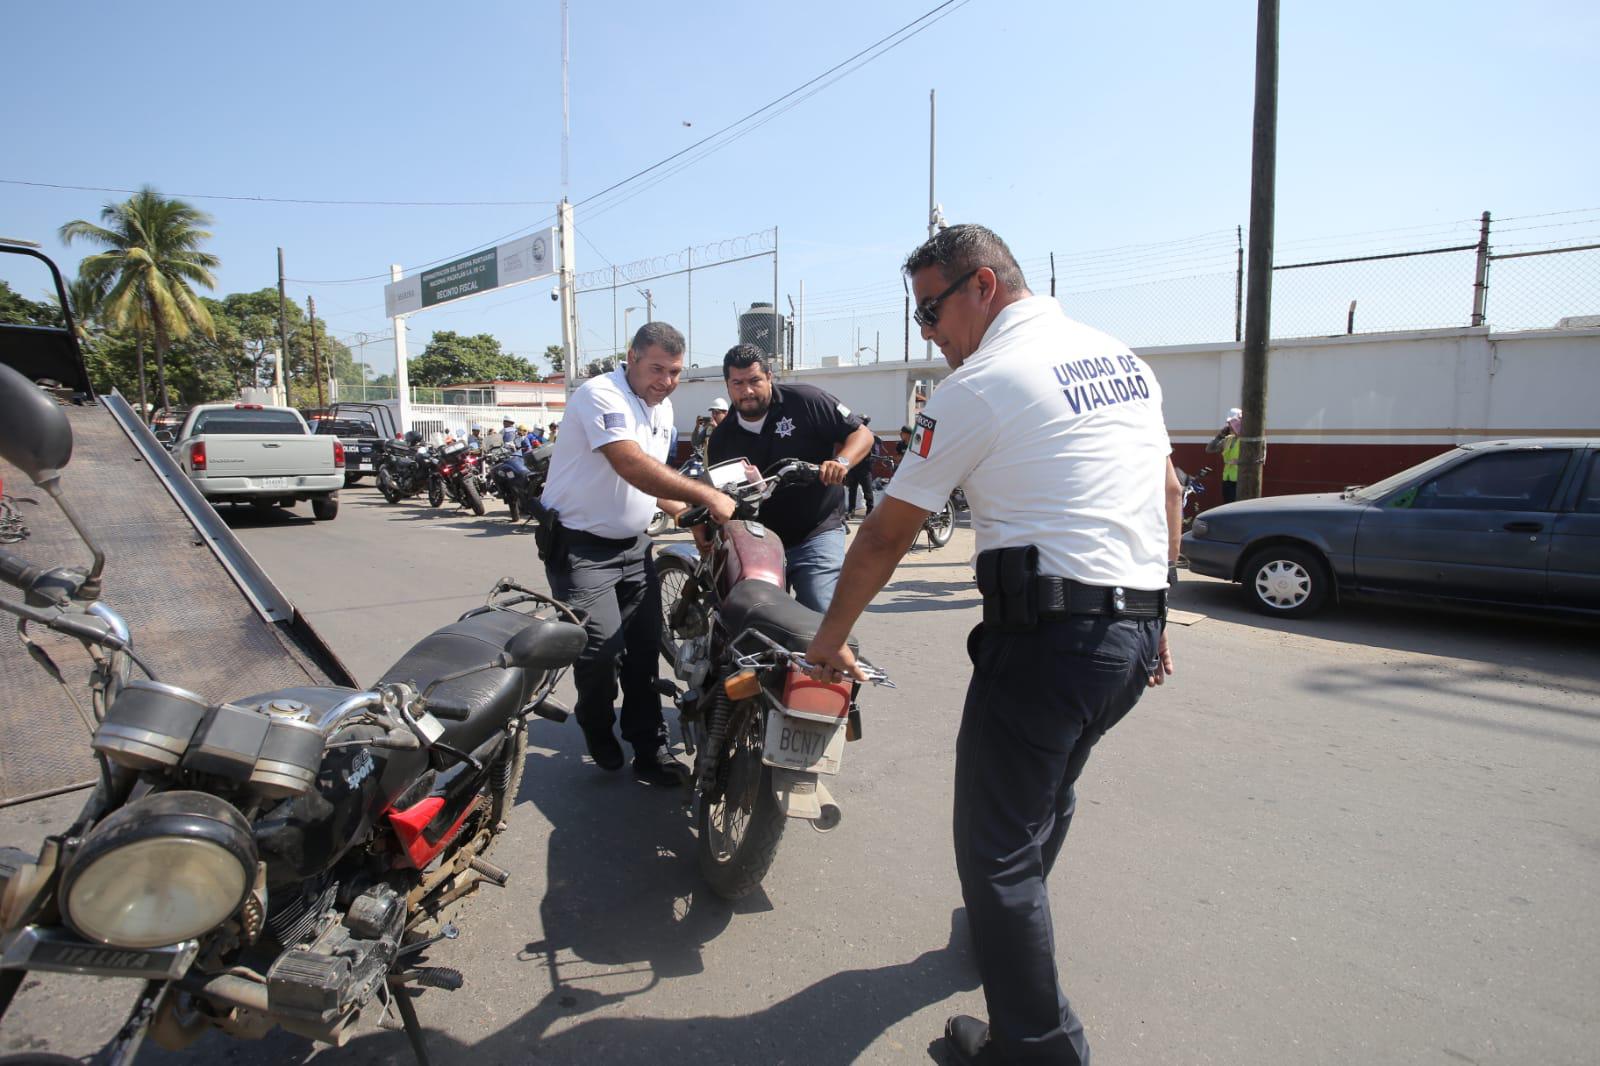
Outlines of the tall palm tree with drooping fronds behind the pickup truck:
<svg viewBox="0 0 1600 1066">
<path fill-rule="evenodd" d="M 157 397 L 162 408 L 170 410 L 168 344 L 194 330 L 216 336 L 211 312 L 189 288 L 190 282 L 216 288 L 211 271 L 219 261 L 200 251 L 200 245 L 211 237 L 202 229 L 211 224 L 211 216 L 144 186 L 122 203 L 101 208 L 101 222 L 104 226 L 83 219 L 67 222 L 61 227 L 61 238 L 72 243 L 82 237 L 107 250 L 78 264 L 78 275 L 90 288 L 104 293 L 101 317 L 107 325 L 131 325 L 139 333 L 141 362 L 146 330 L 155 338 Z M 142 392 L 142 370 L 139 386 Z"/>
</svg>

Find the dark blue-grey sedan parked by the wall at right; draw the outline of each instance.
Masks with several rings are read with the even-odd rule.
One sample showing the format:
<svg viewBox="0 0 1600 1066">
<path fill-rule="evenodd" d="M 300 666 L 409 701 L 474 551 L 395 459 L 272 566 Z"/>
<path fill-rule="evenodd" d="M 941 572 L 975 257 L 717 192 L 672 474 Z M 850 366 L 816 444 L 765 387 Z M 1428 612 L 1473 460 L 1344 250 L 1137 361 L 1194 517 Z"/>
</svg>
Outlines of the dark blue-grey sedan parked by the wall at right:
<svg viewBox="0 0 1600 1066">
<path fill-rule="evenodd" d="M 1600 615 L 1600 437 L 1470 443 L 1342 493 L 1222 504 L 1184 555 L 1267 615 L 1355 592 Z"/>
</svg>

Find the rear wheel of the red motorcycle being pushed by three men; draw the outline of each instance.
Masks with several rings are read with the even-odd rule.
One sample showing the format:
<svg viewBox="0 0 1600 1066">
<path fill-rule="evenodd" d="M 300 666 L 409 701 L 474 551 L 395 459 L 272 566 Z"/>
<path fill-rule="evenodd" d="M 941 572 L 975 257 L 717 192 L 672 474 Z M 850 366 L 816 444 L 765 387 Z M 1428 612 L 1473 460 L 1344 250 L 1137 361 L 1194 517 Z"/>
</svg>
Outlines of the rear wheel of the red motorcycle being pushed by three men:
<svg viewBox="0 0 1600 1066">
<path fill-rule="evenodd" d="M 701 799 L 701 877 L 723 900 L 742 900 L 760 887 L 778 858 L 789 821 L 773 797 L 773 773 L 762 765 L 765 733 L 760 711 L 746 707 L 744 725 L 723 755 L 715 791 Z"/>
</svg>

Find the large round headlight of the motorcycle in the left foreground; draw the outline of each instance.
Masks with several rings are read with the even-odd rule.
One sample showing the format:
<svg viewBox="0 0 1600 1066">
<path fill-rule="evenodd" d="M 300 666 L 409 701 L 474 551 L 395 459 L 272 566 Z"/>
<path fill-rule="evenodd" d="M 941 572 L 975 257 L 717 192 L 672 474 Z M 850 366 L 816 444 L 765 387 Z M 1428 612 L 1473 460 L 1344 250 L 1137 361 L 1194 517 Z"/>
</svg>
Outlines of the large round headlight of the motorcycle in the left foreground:
<svg viewBox="0 0 1600 1066">
<path fill-rule="evenodd" d="M 221 925 L 256 877 L 245 816 L 205 792 L 128 804 L 83 837 L 61 882 L 61 909 L 82 936 L 162 948 Z"/>
</svg>

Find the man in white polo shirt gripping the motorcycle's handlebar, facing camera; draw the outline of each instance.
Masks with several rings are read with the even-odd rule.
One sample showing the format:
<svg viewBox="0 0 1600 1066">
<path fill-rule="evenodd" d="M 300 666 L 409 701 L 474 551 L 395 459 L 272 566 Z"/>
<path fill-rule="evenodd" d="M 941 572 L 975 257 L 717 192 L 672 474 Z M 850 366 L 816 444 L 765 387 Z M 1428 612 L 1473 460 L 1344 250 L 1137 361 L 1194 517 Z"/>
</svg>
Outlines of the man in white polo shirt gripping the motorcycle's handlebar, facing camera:
<svg viewBox="0 0 1600 1066">
<path fill-rule="evenodd" d="M 640 327 L 627 363 L 573 392 L 550 456 L 541 554 L 550 592 L 589 611 L 589 645 L 573 666 L 578 723 L 603 770 L 622 765 L 613 707 L 622 682 L 622 739 L 634 775 L 678 784 L 656 691 L 661 586 L 645 528 L 656 509 L 704 504 L 726 522 L 733 499 L 666 466 L 677 434 L 672 402 L 683 371 L 683 335 L 664 322 Z M 554 515 L 554 520 L 552 520 Z"/>
</svg>

